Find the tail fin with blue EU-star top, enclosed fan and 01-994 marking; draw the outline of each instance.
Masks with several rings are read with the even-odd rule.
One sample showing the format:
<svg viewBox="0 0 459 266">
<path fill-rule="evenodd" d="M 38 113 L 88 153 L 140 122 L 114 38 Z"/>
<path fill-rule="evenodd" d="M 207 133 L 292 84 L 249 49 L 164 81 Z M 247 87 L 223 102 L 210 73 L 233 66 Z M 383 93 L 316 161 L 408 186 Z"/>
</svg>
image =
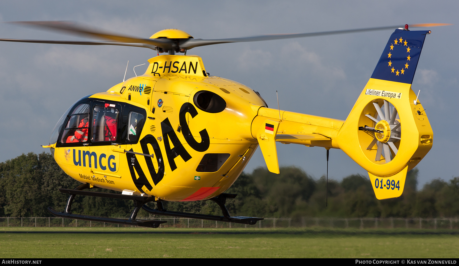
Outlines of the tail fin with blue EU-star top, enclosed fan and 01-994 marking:
<svg viewBox="0 0 459 266">
<path fill-rule="evenodd" d="M 368 171 L 378 199 L 398 197 L 406 173 L 429 152 L 433 132 L 411 89 L 430 31 L 397 29 L 336 141 Z"/>
</svg>

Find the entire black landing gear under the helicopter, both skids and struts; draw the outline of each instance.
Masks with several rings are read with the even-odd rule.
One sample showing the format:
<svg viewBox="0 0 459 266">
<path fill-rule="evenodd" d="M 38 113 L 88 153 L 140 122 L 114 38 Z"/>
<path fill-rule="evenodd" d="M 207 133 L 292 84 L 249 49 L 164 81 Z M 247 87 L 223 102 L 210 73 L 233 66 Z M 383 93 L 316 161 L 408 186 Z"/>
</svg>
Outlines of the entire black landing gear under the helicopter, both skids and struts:
<svg viewBox="0 0 459 266">
<path fill-rule="evenodd" d="M 230 216 L 228 209 L 225 206 L 225 202 L 227 198 L 234 199 L 236 197 L 236 194 L 223 193 L 223 194 L 218 195 L 217 197 L 213 197 L 212 199 L 210 199 L 211 201 L 216 202 L 223 212 L 223 216 L 216 216 L 216 215 L 206 215 L 206 214 L 197 214 L 197 213 L 188 213 L 188 212 L 167 211 L 164 209 L 162 201 L 156 201 L 157 209 L 152 209 L 146 206 L 145 204 L 150 201 L 155 201 L 155 197 L 142 197 L 142 196 L 134 196 L 134 195 L 121 195 L 121 194 L 104 193 L 104 192 L 83 191 L 84 189 L 89 189 L 89 188 L 90 188 L 89 184 L 83 184 L 83 185 L 78 186 L 74 190 L 59 189 L 59 191 L 61 191 L 62 193 L 70 194 L 67 200 L 67 205 L 65 206 L 65 210 L 64 212 L 56 212 L 56 210 L 54 210 L 52 207 L 48 207 L 48 211 L 52 213 L 54 216 L 60 217 L 60 218 L 79 219 L 79 220 L 104 222 L 104 223 L 119 223 L 119 224 L 135 225 L 135 226 L 150 227 L 150 228 L 157 228 L 160 226 L 161 223 L 167 223 L 167 221 L 137 220 L 136 217 L 137 217 L 137 213 L 139 212 L 140 208 L 144 209 L 146 212 L 149 212 L 155 215 L 194 218 L 194 219 L 203 219 L 203 220 L 220 221 L 220 222 L 228 222 L 228 223 L 242 223 L 242 224 L 253 225 L 257 223 L 257 221 L 263 220 L 263 218 L 257 218 L 257 217 Z M 129 219 L 118 219 L 118 218 L 73 214 L 71 212 L 71 208 L 72 208 L 72 202 L 73 202 L 73 199 L 75 198 L 75 195 L 87 195 L 87 196 L 112 198 L 112 199 L 133 200 L 135 203 L 135 207 Z"/>
</svg>

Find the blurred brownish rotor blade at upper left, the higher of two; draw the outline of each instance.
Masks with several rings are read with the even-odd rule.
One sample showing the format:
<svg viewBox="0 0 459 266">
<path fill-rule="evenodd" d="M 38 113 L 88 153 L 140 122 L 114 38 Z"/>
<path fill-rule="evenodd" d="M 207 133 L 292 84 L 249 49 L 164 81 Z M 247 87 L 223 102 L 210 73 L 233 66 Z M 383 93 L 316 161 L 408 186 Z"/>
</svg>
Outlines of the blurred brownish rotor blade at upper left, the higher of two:
<svg viewBox="0 0 459 266">
<path fill-rule="evenodd" d="M 156 45 L 159 47 L 169 48 L 172 45 L 172 40 L 169 39 L 150 39 L 150 38 L 137 38 L 127 35 L 121 35 L 118 33 L 110 33 L 100 29 L 94 29 L 83 25 L 78 25 L 75 22 L 67 21 L 17 21 L 8 22 L 13 24 L 19 24 L 24 26 L 41 27 L 46 29 L 55 29 L 71 33 L 73 35 L 90 36 L 95 38 L 108 39 L 116 41 L 118 43 L 146 43 L 150 45 Z M 73 43 L 69 43 L 73 44 Z"/>
</svg>

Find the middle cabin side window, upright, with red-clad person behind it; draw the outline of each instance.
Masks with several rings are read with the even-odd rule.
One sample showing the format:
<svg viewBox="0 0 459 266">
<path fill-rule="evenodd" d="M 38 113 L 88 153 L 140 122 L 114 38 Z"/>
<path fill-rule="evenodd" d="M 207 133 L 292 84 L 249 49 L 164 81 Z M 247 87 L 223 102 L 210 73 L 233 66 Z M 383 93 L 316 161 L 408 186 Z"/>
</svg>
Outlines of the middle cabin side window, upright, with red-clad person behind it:
<svg viewBox="0 0 459 266">
<path fill-rule="evenodd" d="M 94 106 L 92 114 L 91 141 L 116 141 L 119 111 L 114 104 Z"/>
</svg>

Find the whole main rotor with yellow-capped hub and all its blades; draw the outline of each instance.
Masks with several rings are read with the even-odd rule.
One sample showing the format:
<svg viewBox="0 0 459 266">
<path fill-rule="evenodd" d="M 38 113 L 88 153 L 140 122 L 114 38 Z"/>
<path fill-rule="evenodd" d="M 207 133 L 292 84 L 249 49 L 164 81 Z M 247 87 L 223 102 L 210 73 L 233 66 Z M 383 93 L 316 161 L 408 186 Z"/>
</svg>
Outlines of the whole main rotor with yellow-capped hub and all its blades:
<svg viewBox="0 0 459 266">
<path fill-rule="evenodd" d="M 59 30 L 73 35 L 88 36 L 93 38 L 100 38 L 110 40 L 107 42 L 97 41 L 54 41 L 54 40 L 28 40 L 28 39 L 7 39 L 2 38 L 0 41 L 6 42 L 24 42 L 24 43 L 55 43 L 55 44 L 79 44 L 79 45 L 122 45 L 122 46 L 134 46 L 134 47 L 145 47 L 157 50 L 158 52 L 168 52 L 169 54 L 175 54 L 178 52 L 184 53 L 186 50 L 219 43 L 238 43 L 238 42 L 257 42 L 267 40 L 278 40 L 287 38 L 303 38 L 313 36 L 324 36 L 324 35 L 335 35 L 344 33 L 358 33 L 358 32 L 369 32 L 394 29 L 398 27 L 407 27 L 407 25 L 395 25 L 385 27 L 369 27 L 369 28 L 358 28 L 358 29 L 347 29 L 337 31 L 325 31 L 325 32 L 314 32 L 314 33 L 282 33 L 282 34 L 266 34 L 243 38 L 223 38 L 223 39 L 194 39 L 190 34 L 177 29 L 162 30 L 158 33 L 164 34 L 153 34 L 150 38 L 138 38 L 118 33 L 111 33 L 105 30 L 95 29 L 92 27 L 83 26 L 75 22 L 66 21 L 20 21 L 20 22 L 9 22 L 18 25 L 28 27 L 41 27 L 45 29 Z M 436 27 L 446 26 L 451 24 L 445 23 L 429 23 L 429 24 L 413 24 L 411 27 Z"/>
</svg>

